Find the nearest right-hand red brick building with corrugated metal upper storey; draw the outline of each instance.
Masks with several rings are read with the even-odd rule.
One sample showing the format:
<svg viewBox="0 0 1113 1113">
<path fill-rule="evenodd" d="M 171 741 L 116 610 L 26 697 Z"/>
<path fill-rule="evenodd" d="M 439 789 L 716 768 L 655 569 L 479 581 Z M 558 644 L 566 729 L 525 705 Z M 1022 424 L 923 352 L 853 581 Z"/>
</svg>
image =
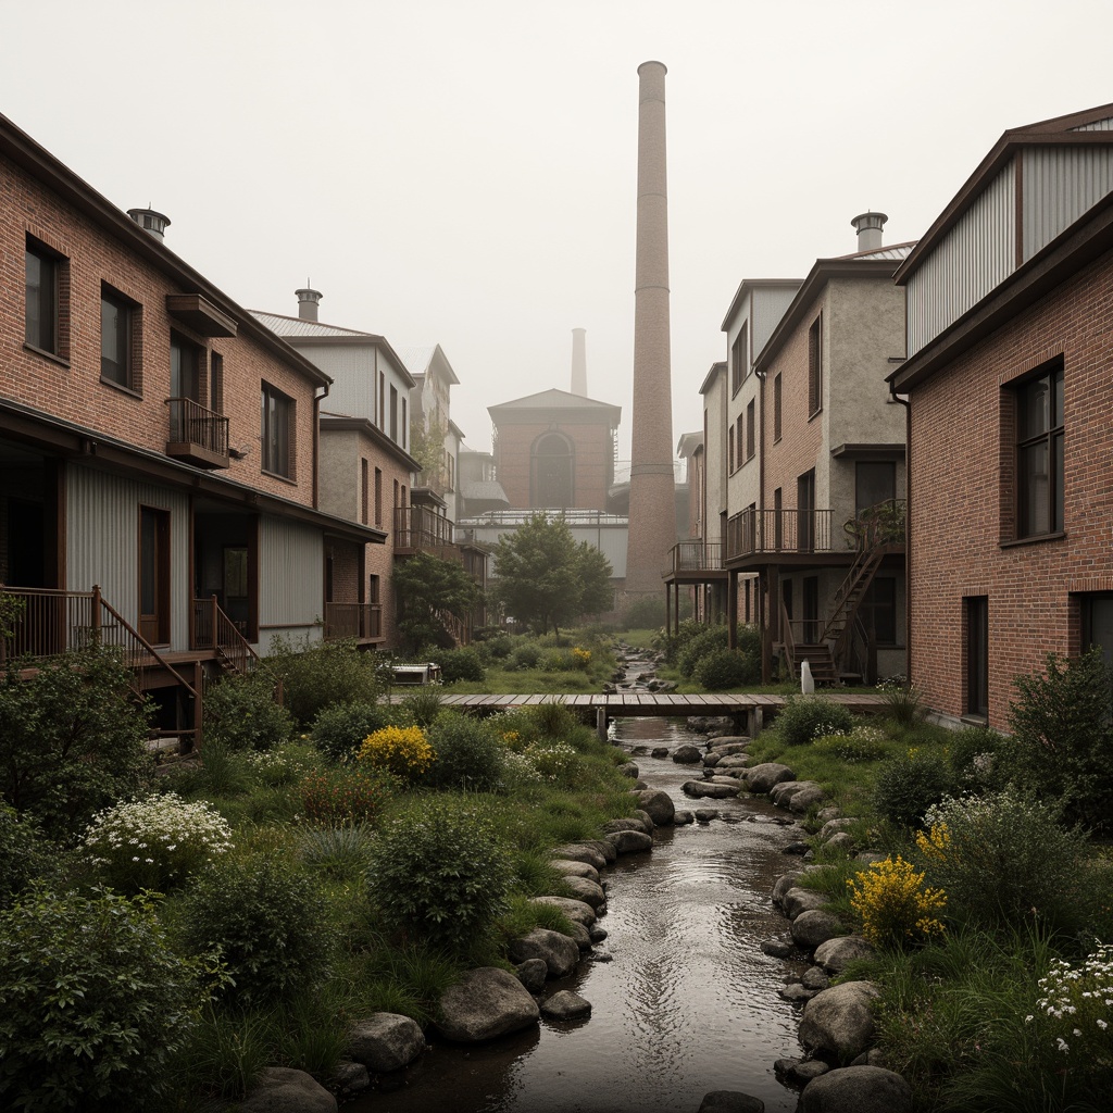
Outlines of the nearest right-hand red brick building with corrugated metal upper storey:
<svg viewBox="0 0 1113 1113">
<path fill-rule="evenodd" d="M 896 279 L 912 678 L 1007 728 L 1045 653 L 1113 651 L 1113 105 L 1006 131 Z"/>
</svg>

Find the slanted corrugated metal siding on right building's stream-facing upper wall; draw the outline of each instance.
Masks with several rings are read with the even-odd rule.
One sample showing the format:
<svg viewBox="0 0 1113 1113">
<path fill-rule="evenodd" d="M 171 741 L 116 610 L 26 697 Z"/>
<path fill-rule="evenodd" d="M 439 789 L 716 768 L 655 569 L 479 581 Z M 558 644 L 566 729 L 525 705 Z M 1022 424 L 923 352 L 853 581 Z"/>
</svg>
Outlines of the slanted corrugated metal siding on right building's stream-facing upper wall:
<svg viewBox="0 0 1113 1113">
<path fill-rule="evenodd" d="M 1012 274 L 1015 211 L 1016 174 L 1009 162 L 908 279 L 909 356 Z"/>
</svg>

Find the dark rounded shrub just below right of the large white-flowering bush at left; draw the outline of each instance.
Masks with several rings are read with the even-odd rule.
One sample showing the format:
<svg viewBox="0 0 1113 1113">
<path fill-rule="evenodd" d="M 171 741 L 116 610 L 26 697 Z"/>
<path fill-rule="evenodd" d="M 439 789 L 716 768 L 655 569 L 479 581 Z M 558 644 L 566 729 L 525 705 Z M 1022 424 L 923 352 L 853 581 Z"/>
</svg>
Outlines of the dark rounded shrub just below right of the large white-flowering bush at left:
<svg viewBox="0 0 1113 1113">
<path fill-rule="evenodd" d="M 314 883 L 280 858 L 233 858 L 185 895 L 183 933 L 197 952 L 219 948 L 240 1007 L 287 1002 L 325 974 L 331 935 Z"/>
</svg>

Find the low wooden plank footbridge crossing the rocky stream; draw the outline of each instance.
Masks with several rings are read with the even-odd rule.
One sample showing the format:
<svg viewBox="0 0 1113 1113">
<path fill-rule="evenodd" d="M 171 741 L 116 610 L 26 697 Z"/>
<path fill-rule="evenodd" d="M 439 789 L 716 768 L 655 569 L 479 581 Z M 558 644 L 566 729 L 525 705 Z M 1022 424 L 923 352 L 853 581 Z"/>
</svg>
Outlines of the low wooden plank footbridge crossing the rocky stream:
<svg viewBox="0 0 1113 1113">
<path fill-rule="evenodd" d="M 858 713 L 878 713 L 885 710 L 885 700 L 871 693 L 851 695 L 849 692 L 820 692 L 820 699 L 831 703 L 841 703 Z M 392 701 L 404 699 L 395 689 Z M 532 696 L 457 696 L 445 693 L 441 698 L 442 707 L 451 707 L 459 711 L 492 711 L 510 710 L 519 707 L 535 707 L 539 703 L 563 703 L 570 711 L 584 716 L 594 713 L 595 726 L 601 733 L 607 730 L 610 719 L 640 719 L 650 717 L 688 718 L 690 716 L 726 716 L 745 718 L 746 732 L 756 736 L 767 713 L 770 718 L 786 703 L 785 696 L 757 696 L 747 692 L 716 692 L 706 696 L 678 696 L 659 692 L 617 692 L 603 695 L 575 693 L 532 695 Z"/>
</svg>

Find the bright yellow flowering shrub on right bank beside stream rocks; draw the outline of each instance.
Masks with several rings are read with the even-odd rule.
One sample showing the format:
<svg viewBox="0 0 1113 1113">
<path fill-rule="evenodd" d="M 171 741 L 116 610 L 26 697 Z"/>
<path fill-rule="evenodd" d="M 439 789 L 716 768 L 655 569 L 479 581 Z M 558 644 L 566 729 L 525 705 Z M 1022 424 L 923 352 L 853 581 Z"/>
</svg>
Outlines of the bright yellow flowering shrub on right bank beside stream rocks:
<svg viewBox="0 0 1113 1113">
<path fill-rule="evenodd" d="M 935 914 L 946 906 L 947 895 L 925 886 L 924 875 L 899 855 L 873 863 L 868 873 L 846 884 L 850 907 L 861 919 L 861 934 L 875 946 L 900 947 L 943 934 Z"/>
</svg>

